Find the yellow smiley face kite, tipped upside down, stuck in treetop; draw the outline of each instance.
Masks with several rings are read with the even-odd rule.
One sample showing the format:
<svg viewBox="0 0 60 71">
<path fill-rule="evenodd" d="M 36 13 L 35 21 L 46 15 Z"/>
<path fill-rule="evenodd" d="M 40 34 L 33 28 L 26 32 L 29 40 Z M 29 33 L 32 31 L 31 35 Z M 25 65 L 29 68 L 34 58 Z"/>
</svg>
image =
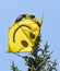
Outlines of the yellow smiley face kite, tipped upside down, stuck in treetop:
<svg viewBox="0 0 60 71">
<path fill-rule="evenodd" d="M 34 15 L 20 15 L 9 28 L 9 45 L 7 52 L 31 52 L 40 32 L 43 20 Z"/>
</svg>

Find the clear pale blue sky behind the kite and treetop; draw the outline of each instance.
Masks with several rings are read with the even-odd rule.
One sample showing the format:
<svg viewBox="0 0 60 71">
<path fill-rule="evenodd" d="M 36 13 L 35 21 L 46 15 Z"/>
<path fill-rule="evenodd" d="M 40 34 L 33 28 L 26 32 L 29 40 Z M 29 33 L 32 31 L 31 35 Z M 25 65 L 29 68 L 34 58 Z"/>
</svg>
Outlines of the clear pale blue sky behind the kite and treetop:
<svg viewBox="0 0 60 71">
<path fill-rule="evenodd" d="M 53 51 L 51 60 L 57 59 L 57 69 L 60 71 L 60 0 L 0 0 L 0 71 L 11 71 L 12 60 L 22 71 L 27 70 L 22 58 L 5 52 L 9 27 L 20 14 L 28 13 L 41 19 L 43 12 L 43 45 L 49 43 L 49 50 Z"/>
</svg>

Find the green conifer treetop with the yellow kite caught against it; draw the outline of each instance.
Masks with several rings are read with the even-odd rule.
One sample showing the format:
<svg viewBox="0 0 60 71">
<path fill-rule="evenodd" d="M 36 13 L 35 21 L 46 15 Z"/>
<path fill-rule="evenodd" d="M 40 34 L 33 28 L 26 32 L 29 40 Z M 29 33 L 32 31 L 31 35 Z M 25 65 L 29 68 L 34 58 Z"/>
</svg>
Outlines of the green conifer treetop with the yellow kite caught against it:
<svg viewBox="0 0 60 71">
<path fill-rule="evenodd" d="M 28 67 L 27 71 L 57 71 L 56 66 L 57 62 L 50 60 L 50 52 L 48 50 L 48 43 L 43 47 L 40 47 L 40 34 L 36 38 L 35 46 L 33 47 L 33 51 L 28 56 L 22 57 L 25 60 L 25 64 Z M 19 56 L 19 55 L 17 55 Z M 19 56 L 21 57 L 21 56 Z M 13 71 L 20 71 L 17 67 L 12 66 Z"/>
</svg>

